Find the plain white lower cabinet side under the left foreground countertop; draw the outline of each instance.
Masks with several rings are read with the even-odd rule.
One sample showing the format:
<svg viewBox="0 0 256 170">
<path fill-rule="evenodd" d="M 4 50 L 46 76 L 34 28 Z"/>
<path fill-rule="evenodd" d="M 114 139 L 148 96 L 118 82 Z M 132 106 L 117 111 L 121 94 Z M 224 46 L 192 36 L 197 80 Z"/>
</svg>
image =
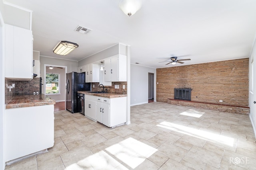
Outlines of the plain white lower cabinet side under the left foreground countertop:
<svg viewBox="0 0 256 170">
<path fill-rule="evenodd" d="M 6 109 L 6 161 L 54 145 L 54 105 Z"/>
</svg>

